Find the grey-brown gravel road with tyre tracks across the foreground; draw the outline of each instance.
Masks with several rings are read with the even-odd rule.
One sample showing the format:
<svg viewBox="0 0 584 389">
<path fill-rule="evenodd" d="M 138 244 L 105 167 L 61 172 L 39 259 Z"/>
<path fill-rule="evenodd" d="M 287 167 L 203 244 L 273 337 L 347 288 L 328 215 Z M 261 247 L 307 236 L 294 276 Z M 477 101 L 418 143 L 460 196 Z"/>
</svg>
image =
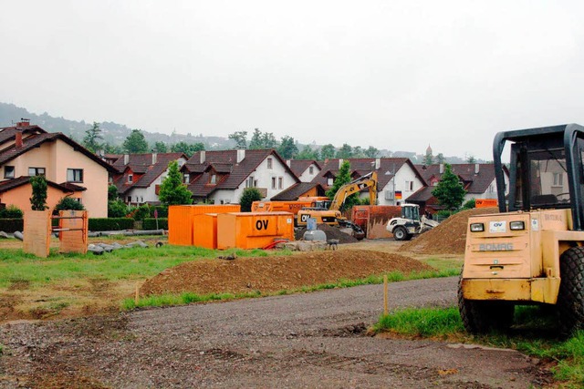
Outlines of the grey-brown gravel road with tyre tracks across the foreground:
<svg viewBox="0 0 584 389">
<path fill-rule="evenodd" d="M 390 284 L 391 308 L 449 306 L 456 279 Z M 512 351 L 370 337 L 382 286 L 0 326 L 0 387 L 527 388 Z M 542 381 L 543 380 L 543 381 Z"/>
</svg>

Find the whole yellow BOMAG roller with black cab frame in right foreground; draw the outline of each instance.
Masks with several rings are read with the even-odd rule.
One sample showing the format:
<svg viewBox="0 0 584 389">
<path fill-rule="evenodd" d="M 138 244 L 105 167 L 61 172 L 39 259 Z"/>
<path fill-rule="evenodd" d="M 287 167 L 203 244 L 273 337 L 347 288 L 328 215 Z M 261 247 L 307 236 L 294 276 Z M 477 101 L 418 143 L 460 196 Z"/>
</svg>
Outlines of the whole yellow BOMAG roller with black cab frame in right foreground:
<svg viewBox="0 0 584 389">
<path fill-rule="evenodd" d="M 547 304 L 559 332 L 572 333 L 584 323 L 584 128 L 500 132 L 493 156 L 500 213 L 468 221 L 458 288 L 464 327 L 505 329 L 516 304 Z"/>
</svg>

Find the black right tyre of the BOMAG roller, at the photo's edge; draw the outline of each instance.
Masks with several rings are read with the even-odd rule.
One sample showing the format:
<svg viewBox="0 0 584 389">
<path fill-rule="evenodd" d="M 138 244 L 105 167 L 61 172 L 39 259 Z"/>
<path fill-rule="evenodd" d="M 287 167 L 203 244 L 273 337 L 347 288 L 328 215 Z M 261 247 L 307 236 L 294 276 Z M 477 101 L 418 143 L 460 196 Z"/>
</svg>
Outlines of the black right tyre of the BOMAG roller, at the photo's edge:
<svg viewBox="0 0 584 389">
<path fill-rule="evenodd" d="M 559 257 L 559 274 L 559 332 L 569 336 L 584 323 L 584 247 L 564 251 Z"/>
</svg>

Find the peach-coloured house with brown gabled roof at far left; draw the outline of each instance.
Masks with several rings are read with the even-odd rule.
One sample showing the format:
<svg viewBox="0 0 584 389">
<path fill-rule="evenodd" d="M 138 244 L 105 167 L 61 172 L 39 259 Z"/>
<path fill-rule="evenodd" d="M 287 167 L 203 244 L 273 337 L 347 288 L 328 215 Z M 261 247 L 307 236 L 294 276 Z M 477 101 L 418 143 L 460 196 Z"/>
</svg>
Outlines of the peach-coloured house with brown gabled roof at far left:
<svg viewBox="0 0 584 389">
<path fill-rule="evenodd" d="M 47 206 L 72 197 L 89 217 L 108 216 L 108 175 L 114 169 L 87 148 L 28 121 L 0 128 L 0 203 L 30 210 L 31 176 L 47 178 Z"/>
</svg>

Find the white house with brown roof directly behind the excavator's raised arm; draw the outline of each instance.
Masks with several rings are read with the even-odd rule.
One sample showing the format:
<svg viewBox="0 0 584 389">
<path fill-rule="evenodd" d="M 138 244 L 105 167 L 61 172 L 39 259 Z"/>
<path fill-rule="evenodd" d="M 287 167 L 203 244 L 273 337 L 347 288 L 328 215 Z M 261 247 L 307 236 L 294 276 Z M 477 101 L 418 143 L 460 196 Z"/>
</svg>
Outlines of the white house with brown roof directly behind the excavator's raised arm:
<svg viewBox="0 0 584 389">
<path fill-rule="evenodd" d="M 377 172 L 378 205 L 399 205 L 426 185 L 412 161 L 407 158 L 347 159 L 352 179 L 359 179 L 371 171 Z M 329 189 L 339 174 L 343 159 L 327 159 L 320 164 L 318 176 L 312 180 Z M 361 194 L 368 197 L 368 192 Z"/>
</svg>

